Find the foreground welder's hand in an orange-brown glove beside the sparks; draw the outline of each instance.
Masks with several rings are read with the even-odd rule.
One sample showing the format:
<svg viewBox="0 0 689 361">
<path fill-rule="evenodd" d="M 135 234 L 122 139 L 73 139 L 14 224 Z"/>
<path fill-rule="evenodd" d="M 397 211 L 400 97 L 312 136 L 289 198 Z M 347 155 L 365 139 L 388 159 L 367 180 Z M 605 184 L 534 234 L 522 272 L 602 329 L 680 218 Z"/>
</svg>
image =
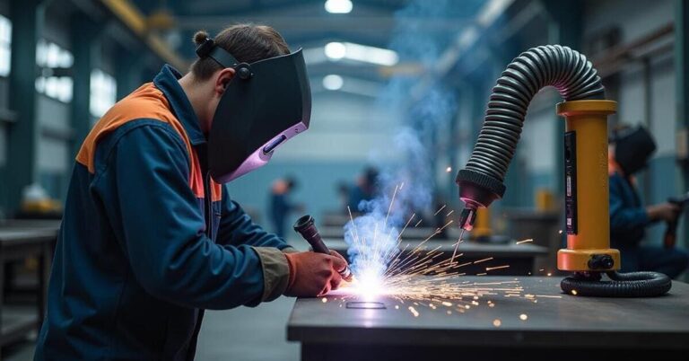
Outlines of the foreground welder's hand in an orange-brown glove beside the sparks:
<svg viewBox="0 0 689 361">
<path fill-rule="evenodd" d="M 325 295 L 342 282 L 338 270 L 347 262 L 341 258 L 316 252 L 285 253 L 290 264 L 290 283 L 284 295 L 313 297 Z"/>
</svg>

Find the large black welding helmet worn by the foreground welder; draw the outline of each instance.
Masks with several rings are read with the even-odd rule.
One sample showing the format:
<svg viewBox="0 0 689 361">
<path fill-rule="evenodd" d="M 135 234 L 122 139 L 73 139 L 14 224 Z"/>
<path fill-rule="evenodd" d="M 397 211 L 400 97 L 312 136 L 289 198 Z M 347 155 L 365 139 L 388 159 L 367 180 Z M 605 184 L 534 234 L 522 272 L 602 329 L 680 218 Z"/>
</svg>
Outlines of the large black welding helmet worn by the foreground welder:
<svg viewBox="0 0 689 361">
<path fill-rule="evenodd" d="M 266 164 L 278 145 L 309 128 L 311 90 L 301 49 L 248 64 L 208 39 L 196 55 L 235 70 L 208 135 L 214 181 L 232 181 Z"/>
</svg>

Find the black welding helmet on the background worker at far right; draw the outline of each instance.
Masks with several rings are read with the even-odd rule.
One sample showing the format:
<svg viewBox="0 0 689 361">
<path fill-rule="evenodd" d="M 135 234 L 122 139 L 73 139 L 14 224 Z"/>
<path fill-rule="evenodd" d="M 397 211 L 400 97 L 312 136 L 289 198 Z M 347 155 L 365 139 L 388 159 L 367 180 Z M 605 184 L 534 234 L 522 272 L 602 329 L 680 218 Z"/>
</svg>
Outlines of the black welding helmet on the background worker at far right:
<svg viewBox="0 0 689 361">
<path fill-rule="evenodd" d="M 646 167 L 650 155 L 656 151 L 656 142 L 646 128 L 622 128 L 613 133 L 610 143 L 615 145 L 615 162 L 626 175 Z"/>
</svg>

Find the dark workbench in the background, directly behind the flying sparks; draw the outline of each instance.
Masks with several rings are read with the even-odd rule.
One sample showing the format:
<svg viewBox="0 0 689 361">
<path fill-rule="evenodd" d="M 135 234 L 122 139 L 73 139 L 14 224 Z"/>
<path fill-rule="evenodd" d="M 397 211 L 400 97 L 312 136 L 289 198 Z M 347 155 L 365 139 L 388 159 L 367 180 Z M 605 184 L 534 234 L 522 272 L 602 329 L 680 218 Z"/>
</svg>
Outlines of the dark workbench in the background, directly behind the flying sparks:
<svg viewBox="0 0 689 361">
<path fill-rule="evenodd" d="M 327 248 L 338 251 L 349 260 L 347 255 L 349 245 L 345 240 L 341 238 L 325 238 L 323 242 L 326 243 Z M 403 251 L 403 255 L 400 257 L 406 257 L 409 251 L 414 250 L 414 248 L 422 242 L 423 240 L 405 240 L 400 242 L 399 248 L 401 250 L 404 250 L 406 247 L 406 251 Z M 455 251 L 456 242 L 457 240 L 431 239 L 423 243 L 423 248 L 426 251 L 437 248 L 437 252 L 441 254 L 439 257 L 433 259 L 433 263 L 438 263 L 452 257 Z M 408 247 L 406 246 L 407 244 L 409 244 Z M 545 247 L 532 243 L 516 244 L 515 242 L 510 242 L 508 244 L 493 244 L 464 241 L 459 243 L 456 255 L 458 258 L 456 261 L 458 264 L 471 263 L 463 266 L 459 271 L 467 273 L 467 275 L 483 273 L 486 267 L 503 265 L 510 265 L 510 267 L 506 269 L 494 269 L 491 271 L 491 274 L 493 276 L 528 276 L 529 274 L 538 274 L 540 271 L 540 273 L 545 275 L 552 271 L 555 265 L 553 265 L 553 269 L 535 269 L 534 265 L 536 263 L 536 258 L 545 256 L 547 252 L 548 250 Z M 488 258 L 492 259 L 485 260 Z M 484 261 L 474 264 L 473 262 L 477 260 Z"/>
</svg>

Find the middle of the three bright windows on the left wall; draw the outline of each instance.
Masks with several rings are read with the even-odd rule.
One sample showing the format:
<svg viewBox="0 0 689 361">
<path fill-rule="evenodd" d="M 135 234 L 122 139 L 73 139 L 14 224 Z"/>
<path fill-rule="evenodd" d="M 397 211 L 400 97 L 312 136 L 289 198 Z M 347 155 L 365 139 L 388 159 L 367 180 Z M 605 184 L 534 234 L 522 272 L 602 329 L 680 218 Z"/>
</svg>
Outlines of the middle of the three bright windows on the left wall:
<svg viewBox="0 0 689 361">
<path fill-rule="evenodd" d="M 36 46 L 36 64 L 43 68 L 43 75 L 36 79 L 36 91 L 58 101 L 72 101 L 72 78 L 52 75 L 52 69 L 72 67 L 72 53 L 54 42 L 39 40 Z"/>
</svg>

